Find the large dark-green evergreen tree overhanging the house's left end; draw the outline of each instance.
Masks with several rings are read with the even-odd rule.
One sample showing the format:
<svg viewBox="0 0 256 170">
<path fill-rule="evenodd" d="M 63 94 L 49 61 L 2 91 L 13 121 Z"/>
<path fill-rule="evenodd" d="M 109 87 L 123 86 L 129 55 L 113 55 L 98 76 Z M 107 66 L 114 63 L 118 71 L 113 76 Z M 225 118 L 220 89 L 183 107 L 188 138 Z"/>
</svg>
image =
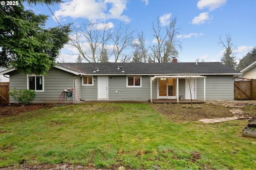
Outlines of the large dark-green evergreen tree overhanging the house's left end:
<svg viewBox="0 0 256 170">
<path fill-rule="evenodd" d="M 26 0 L 30 5 L 61 0 Z M 0 5 L 0 67 L 12 66 L 22 74 L 46 75 L 60 49 L 68 42 L 70 24 L 45 29 L 48 16 L 18 5 Z"/>
</svg>

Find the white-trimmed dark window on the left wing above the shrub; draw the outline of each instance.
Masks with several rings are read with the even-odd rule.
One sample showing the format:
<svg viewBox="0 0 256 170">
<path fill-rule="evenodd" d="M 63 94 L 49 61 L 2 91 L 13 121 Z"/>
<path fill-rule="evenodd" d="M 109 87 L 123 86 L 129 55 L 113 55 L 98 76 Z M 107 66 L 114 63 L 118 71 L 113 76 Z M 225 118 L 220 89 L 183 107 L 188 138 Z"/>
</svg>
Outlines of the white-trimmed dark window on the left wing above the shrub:
<svg viewBox="0 0 256 170">
<path fill-rule="evenodd" d="M 44 76 L 27 75 L 27 89 L 44 92 Z"/>
</svg>

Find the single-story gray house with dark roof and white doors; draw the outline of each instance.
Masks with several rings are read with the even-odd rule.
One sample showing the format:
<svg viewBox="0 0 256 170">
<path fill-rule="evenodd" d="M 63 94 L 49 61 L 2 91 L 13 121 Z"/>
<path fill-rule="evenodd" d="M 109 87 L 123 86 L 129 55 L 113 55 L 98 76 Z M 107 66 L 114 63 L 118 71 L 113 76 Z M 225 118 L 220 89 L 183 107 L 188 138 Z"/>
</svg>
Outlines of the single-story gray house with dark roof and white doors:
<svg viewBox="0 0 256 170">
<path fill-rule="evenodd" d="M 10 90 L 36 91 L 35 103 L 65 101 L 234 100 L 234 74 L 221 63 L 57 63 L 47 76 L 10 68 Z M 10 103 L 15 102 L 10 98 Z"/>
</svg>

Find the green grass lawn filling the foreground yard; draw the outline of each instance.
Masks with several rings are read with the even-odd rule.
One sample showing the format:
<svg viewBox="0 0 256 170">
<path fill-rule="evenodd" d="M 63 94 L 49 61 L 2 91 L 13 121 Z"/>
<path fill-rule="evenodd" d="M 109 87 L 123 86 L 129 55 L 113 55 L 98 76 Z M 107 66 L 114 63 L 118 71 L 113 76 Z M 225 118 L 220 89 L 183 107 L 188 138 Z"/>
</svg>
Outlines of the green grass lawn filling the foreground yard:
<svg viewBox="0 0 256 170">
<path fill-rule="evenodd" d="M 149 104 L 77 104 L 0 119 L 0 168 L 256 169 L 248 120 L 174 123 Z"/>
</svg>

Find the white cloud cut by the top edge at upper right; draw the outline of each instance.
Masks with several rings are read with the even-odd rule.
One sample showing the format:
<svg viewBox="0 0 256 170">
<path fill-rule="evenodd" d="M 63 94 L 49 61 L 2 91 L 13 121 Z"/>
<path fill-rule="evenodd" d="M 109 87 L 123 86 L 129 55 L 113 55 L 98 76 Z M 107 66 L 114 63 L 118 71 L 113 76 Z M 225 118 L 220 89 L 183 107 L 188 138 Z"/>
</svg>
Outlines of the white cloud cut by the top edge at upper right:
<svg viewBox="0 0 256 170">
<path fill-rule="evenodd" d="M 213 11 L 216 8 L 224 6 L 226 4 L 226 2 L 227 2 L 227 0 L 199 0 L 197 2 L 197 7 L 200 10 L 208 8 L 210 11 Z"/>
</svg>

